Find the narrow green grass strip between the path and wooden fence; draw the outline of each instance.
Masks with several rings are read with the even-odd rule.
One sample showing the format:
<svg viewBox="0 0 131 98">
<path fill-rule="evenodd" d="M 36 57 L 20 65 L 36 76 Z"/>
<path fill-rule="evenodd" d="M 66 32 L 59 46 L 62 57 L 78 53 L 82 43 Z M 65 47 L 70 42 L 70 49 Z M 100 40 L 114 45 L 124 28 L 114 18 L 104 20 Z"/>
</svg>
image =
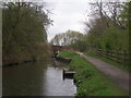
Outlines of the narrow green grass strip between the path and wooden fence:
<svg viewBox="0 0 131 98">
<path fill-rule="evenodd" d="M 103 61 L 105 61 L 105 62 L 107 62 L 107 63 L 109 63 L 111 65 L 115 65 L 115 66 L 117 66 L 117 68 L 119 68 L 121 70 L 124 70 L 127 72 L 131 72 L 131 68 L 129 68 L 129 65 L 124 65 L 124 64 L 118 63 L 116 61 L 112 61 L 112 60 L 104 58 L 104 57 L 96 56 L 96 54 L 91 53 L 91 52 L 84 52 L 84 53 L 86 56 L 90 56 L 90 57 L 93 57 L 93 58 L 96 58 L 96 59 L 100 59 L 100 60 L 103 60 Z"/>
</svg>

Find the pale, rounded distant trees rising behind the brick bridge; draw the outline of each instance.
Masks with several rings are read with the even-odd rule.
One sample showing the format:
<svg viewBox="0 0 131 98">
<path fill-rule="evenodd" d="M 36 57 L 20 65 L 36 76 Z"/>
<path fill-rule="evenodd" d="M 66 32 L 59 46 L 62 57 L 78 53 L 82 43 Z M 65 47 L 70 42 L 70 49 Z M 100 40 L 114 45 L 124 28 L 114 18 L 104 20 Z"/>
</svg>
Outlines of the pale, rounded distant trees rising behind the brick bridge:
<svg viewBox="0 0 131 98">
<path fill-rule="evenodd" d="M 52 45 L 68 46 L 76 50 L 84 50 L 85 41 L 83 40 L 84 35 L 75 30 L 67 30 L 66 33 L 58 34 L 51 39 Z"/>
</svg>

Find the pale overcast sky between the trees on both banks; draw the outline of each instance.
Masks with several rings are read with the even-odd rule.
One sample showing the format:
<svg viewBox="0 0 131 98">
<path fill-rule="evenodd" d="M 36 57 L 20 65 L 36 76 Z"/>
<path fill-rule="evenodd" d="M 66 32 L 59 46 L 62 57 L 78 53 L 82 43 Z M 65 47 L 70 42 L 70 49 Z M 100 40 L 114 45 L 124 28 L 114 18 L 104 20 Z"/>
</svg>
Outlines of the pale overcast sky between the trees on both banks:
<svg viewBox="0 0 131 98">
<path fill-rule="evenodd" d="M 50 19 L 53 21 L 53 25 L 48 28 L 48 40 L 68 29 L 84 33 L 83 22 L 91 11 L 88 2 L 93 1 L 95 0 L 48 0 L 47 9 L 51 11 Z"/>
</svg>

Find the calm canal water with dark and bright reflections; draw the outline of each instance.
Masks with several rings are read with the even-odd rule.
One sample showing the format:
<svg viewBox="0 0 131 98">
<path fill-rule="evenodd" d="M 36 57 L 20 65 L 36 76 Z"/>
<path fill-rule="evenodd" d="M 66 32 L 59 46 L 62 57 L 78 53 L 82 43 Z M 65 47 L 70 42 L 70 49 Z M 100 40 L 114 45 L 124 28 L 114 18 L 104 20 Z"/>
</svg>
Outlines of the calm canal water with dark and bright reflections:
<svg viewBox="0 0 131 98">
<path fill-rule="evenodd" d="M 67 64 L 56 60 L 29 62 L 2 70 L 3 96 L 74 96 L 73 79 L 62 77 Z"/>
</svg>

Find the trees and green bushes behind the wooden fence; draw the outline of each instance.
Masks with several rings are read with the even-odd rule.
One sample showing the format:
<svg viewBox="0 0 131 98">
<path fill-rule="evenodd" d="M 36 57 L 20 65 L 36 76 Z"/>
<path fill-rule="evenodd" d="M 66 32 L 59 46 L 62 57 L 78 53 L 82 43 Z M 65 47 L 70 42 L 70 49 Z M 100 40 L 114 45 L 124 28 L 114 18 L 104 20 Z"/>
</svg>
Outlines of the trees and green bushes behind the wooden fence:
<svg viewBox="0 0 131 98">
<path fill-rule="evenodd" d="M 128 11 L 129 2 L 95 2 L 92 3 L 90 22 L 85 22 L 87 42 L 91 47 L 106 50 L 128 50 Z M 122 41 L 121 41 L 122 40 Z"/>
</svg>

